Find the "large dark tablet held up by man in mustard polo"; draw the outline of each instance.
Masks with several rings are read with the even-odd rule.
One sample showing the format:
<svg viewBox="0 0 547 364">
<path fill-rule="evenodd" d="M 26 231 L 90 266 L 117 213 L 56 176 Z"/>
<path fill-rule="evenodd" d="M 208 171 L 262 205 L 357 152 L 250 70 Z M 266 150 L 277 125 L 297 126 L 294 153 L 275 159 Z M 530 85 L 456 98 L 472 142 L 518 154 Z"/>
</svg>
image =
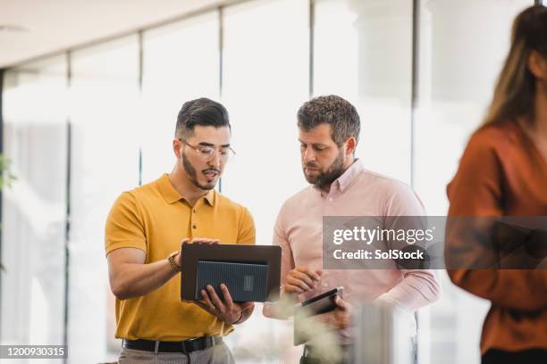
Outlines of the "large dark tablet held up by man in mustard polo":
<svg viewBox="0 0 547 364">
<path fill-rule="evenodd" d="M 223 299 L 220 285 L 233 302 L 266 302 L 279 299 L 281 247 L 250 244 L 189 244 L 181 246 L 181 300 L 202 300 L 201 290 L 213 285 Z"/>
</svg>

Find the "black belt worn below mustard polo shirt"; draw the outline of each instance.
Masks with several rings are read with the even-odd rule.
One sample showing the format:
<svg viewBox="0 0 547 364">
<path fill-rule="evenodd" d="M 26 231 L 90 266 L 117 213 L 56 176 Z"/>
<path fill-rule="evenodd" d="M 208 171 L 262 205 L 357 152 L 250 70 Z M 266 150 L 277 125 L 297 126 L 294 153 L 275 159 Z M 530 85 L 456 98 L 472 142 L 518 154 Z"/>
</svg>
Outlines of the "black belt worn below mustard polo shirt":
<svg viewBox="0 0 547 364">
<path fill-rule="evenodd" d="M 189 339 L 181 342 L 161 342 L 153 340 L 127 340 L 123 339 L 122 347 L 126 349 L 142 350 L 145 352 L 198 352 L 206 350 L 217 343 L 222 343 L 221 336 L 203 336 L 197 339 Z"/>
</svg>

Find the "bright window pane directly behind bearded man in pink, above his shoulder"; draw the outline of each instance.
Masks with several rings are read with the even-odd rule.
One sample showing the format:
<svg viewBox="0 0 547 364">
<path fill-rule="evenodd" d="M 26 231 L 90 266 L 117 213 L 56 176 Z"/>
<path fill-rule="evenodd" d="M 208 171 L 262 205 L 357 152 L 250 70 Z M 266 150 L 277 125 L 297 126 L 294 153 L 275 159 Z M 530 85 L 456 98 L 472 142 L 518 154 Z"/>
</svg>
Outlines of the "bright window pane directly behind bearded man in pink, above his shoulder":
<svg viewBox="0 0 547 364">
<path fill-rule="evenodd" d="M 410 183 L 412 2 L 316 2 L 314 95 L 358 109 L 356 156 L 367 169 Z"/>
</svg>

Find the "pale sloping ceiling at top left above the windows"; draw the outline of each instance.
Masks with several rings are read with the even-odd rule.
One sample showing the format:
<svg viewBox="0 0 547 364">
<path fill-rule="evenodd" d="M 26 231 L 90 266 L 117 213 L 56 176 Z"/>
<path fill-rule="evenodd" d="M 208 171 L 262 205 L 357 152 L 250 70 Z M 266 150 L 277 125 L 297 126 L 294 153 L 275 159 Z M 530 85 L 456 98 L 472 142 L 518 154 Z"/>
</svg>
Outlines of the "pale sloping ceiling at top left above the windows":
<svg viewBox="0 0 547 364">
<path fill-rule="evenodd" d="M 0 68 L 123 35 L 222 0 L 0 0 Z"/>
</svg>

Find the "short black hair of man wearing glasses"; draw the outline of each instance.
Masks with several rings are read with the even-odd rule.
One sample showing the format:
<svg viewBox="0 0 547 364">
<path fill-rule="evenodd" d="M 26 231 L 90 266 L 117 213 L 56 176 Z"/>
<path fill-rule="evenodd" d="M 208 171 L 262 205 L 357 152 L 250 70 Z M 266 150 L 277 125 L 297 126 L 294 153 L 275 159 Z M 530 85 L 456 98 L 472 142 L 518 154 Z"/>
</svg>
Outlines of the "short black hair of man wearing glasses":
<svg viewBox="0 0 547 364">
<path fill-rule="evenodd" d="M 196 125 L 231 128 L 226 108 L 205 97 L 187 101 L 182 105 L 177 117 L 175 137 L 191 136 Z"/>
</svg>

